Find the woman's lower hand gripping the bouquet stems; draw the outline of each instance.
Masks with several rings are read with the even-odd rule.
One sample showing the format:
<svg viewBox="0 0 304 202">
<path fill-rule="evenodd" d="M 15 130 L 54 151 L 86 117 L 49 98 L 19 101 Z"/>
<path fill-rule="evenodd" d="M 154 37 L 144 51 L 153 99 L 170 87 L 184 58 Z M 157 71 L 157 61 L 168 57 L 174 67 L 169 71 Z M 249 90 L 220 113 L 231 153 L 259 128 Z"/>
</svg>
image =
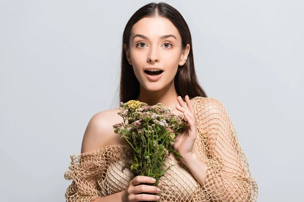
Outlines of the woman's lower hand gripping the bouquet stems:
<svg viewBox="0 0 304 202">
<path fill-rule="evenodd" d="M 149 201 L 149 200 L 155 200 L 158 201 L 159 198 L 157 198 L 158 195 L 153 194 L 138 194 L 141 192 L 149 192 L 149 193 L 159 193 L 158 187 L 156 186 L 149 186 L 139 183 L 154 183 L 152 181 L 152 177 L 138 175 L 134 177 L 130 183 L 128 188 L 123 192 L 123 202 L 136 202 L 136 201 Z M 162 186 L 162 182 L 158 184 L 159 187 Z"/>
</svg>

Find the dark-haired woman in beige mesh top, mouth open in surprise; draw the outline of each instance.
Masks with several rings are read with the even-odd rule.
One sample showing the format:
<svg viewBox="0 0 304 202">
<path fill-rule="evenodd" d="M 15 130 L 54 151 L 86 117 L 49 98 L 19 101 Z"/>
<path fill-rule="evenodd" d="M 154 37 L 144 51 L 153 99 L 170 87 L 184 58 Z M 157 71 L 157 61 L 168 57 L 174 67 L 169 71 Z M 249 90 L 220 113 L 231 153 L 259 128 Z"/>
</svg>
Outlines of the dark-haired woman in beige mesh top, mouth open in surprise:
<svg viewBox="0 0 304 202">
<path fill-rule="evenodd" d="M 219 100 L 207 97 L 194 68 L 192 39 L 181 14 L 166 3 L 143 6 L 123 34 L 120 100 L 162 103 L 187 121 L 176 136 L 161 177 L 160 191 L 147 176 L 121 171 L 127 146 L 112 126 L 123 122 L 118 110 L 99 112 L 84 134 L 80 155 L 71 156 L 65 179 L 66 201 L 256 201 L 258 187 L 238 142 L 235 128 Z"/>
</svg>

